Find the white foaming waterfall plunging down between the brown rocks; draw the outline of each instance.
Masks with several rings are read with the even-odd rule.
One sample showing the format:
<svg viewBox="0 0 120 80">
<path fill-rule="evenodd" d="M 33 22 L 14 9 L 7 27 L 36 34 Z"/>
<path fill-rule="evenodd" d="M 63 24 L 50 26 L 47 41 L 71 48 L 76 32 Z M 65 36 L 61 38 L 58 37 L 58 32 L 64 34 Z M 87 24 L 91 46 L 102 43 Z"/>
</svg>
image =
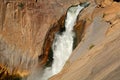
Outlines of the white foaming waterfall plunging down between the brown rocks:
<svg viewBox="0 0 120 80">
<path fill-rule="evenodd" d="M 46 67 L 42 73 L 42 76 L 39 76 L 39 78 L 36 79 L 34 78 L 34 80 L 48 80 L 51 76 L 62 70 L 73 50 L 73 40 L 75 37 L 73 27 L 76 23 L 79 12 L 87 5 L 88 3 L 84 3 L 84 5 L 76 5 L 68 9 L 65 20 L 65 31 L 62 33 L 56 33 L 52 44 L 54 59 L 52 66 Z"/>
</svg>

